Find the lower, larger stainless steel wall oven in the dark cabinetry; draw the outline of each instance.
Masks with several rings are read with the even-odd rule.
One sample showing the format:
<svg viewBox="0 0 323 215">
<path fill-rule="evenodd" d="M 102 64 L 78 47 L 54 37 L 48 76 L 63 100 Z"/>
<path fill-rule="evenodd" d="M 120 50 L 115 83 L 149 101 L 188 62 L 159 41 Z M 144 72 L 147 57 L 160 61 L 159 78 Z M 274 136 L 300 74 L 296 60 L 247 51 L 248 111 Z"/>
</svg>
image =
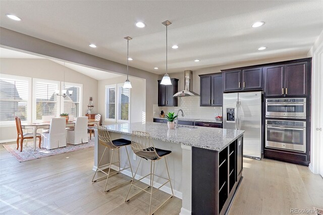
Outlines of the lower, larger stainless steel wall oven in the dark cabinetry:
<svg viewBox="0 0 323 215">
<path fill-rule="evenodd" d="M 266 120 L 265 146 L 306 151 L 306 122 Z"/>
</svg>

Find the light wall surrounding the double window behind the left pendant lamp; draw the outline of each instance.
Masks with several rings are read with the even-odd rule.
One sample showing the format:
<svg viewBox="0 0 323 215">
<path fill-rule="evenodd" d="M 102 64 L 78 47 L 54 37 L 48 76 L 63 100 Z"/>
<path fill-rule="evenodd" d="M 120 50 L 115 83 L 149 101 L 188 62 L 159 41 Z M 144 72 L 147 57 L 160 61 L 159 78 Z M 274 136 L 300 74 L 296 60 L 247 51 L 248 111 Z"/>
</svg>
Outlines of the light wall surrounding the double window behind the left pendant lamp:
<svg viewBox="0 0 323 215">
<path fill-rule="evenodd" d="M 102 115 L 102 125 L 112 124 L 104 121 L 105 85 L 124 83 L 126 76 L 98 81 L 98 111 Z M 146 118 L 146 80 L 129 77 L 131 81 L 130 121 L 131 123 L 145 121 Z"/>
</svg>

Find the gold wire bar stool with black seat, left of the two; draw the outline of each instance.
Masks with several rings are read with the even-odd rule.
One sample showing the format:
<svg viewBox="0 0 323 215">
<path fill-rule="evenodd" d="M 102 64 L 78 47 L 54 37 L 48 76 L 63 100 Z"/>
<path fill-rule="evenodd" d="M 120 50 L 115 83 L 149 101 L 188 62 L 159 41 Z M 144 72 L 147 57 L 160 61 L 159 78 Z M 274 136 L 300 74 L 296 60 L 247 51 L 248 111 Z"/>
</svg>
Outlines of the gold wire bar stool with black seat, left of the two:
<svg viewBox="0 0 323 215">
<path fill-rule="evenodd" d="M 110 137 L 109 131 L 107 131 L 107 129 L 106 129 L 105 127 L 103 127 L 103 126 L 97 126 L 97 134 L 98 134 L 97 136 L 98 136 L 98 142 L 99 142 L 99 144 L 101 144 L 101 145 L 105 146 L 105 148 L 104 148 L 104 151 L 103 151 L 103 153 L 102 153 L 102 156 L 101 156 L 101 159 L 100 159 L 100 161 L 99 161 L 99 164 L 97 165 L 97 168 L 96 168 L 96 171 L 95 171 L 95 173 L 94 173 L 94 176 L 93 176 L 92 182 L 96 182 L 96 181 L 99 181 L 99 180 L 101 180 L 101 179 L 106 178 L 104 191 L 108 192 L 108 191 L 110 191 L 110 190 L 111 190 L 111 189 L 113 189 L 113 188 L 119 187 L 119 186 L 121 186 L 121 185 L 123 185 L 123 184 L 126 184 L 126 183 L 128 183 L 128 182 L 132 181 L 132 180 L 126 181 L 126 182 L 124 182 L 124 183 L 122 183 L 122 184 L 119 184 L 119 185 L 117 185 L 117 186 L 115 186 L 115 187 L 112 187 L 112 188 L 110 188 L 110 189 L 106 190 L 107 180 L 109 180 L 109 176 L 112 176 L 112 175 L 118 174 L 118 173 L 120 173 L 121 171 L 123 171 L 123 170 L 127 170 L 127 169 L 129 169 L 129 168 L 130 168 L 130 170 L 131 170 L 131 175 L 133 176 L 133 172 L 132 172 L 132 168 L 131 168 L 131 164 L 130 164 L 130 159 L 129 159 L 129 154 L 128 154 L 128 149 L 127 149 L 127 145 L 130 145 L 130 144 L 131 144 L 131 141 L 130 141 L 130 140 L 126 140 L 126 139 L 116 139 L 116 140 L 111 140 L 111 137 Z M 115 162 L 115 163 L 112 163 L 112 159 L 113 159 L 113 155 L 114 155 L 115 150 L 116 150 L 116 149 L 120 149 L 121 147 L 125 147 L 125 148 L 126 148 L 129 165 L 127 165 L 127 164 L 123 164 L 123 163 L 120 163 L 120 150 L 119 150 L 119 153 L 118 153 L 119 160 L 118 160 L 117 162 Z M 107 165 L 109 165 L 109 171 L 106 173 L 106 172 L 104 172 L 104 170 L 101 170 L 101 169 L 100 169 L 100 168 L 101 168 L 101 167 L 100 167 L 100 164 L 101 164 L 101 160 L 102 160 L 102 158 L 103 158 L 103 156 L 104 156 L 104 152 L 105 152 L 105 150 L 106 150 L 107 148 L 112 149 L 112 156 L 111 156 L 111 159 L 110 159 L 110 164 L 107 164 Z M 119 163 L 119 171 L 117 171 L 117 172 L 115 172 L 115 173 L 110 174 L 111 165 L 116 164 L 116 163 Z M 121 168 L 120 168 L 120 164 L 123 164 L 123 165 L 128 166 L 128 167 L 127 167 L 127 168 L 124 168 L 124 169 L 121 169 Z M 103 165 L 103 166 L 107 166 L 107 165 Z M 94 177 L 95 177 L 95 175 L 96 175 L 97 171 L 100 171 L 100 172 L 104 173 L 106 176 L 104 176 L 104 177 L 102 177 L 102 178 L 99 178 L 99 179 L 94 180 Z"/>
</svg>

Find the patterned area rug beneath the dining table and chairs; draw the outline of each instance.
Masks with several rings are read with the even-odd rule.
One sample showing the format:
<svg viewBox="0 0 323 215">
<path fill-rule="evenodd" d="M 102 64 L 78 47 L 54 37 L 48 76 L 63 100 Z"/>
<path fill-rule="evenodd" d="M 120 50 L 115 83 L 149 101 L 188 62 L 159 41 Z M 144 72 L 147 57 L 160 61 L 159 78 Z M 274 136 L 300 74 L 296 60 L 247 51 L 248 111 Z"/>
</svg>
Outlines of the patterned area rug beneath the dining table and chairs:
<svg viewBox="0 0 323 215">
<path fill-rule="evenodd" d="M 56 148 L 56 149 L 46 149 L 46 148 L 36 148 L 34 151 L 33 143 L 29 142 L 27 146 L 23 145 L 23 150 L 20 152 L 20 147 L 17 150 L 17 144 L 7 144 L 3 145 L 7 151 L 9 151 L 14 157 L 17 158 L 19 162 L 25 162 L 27 160 L 33 160 L 40 157 L 47 157 L 56 154 L 62 154 L 70 151 L 76 151 L 79 149 L 90 148 L 94 146 L 94 139 L 89 140 L 88 143 L 82 143 L 79 145 L 66 144 L 66 147 Z"/>
</svg>

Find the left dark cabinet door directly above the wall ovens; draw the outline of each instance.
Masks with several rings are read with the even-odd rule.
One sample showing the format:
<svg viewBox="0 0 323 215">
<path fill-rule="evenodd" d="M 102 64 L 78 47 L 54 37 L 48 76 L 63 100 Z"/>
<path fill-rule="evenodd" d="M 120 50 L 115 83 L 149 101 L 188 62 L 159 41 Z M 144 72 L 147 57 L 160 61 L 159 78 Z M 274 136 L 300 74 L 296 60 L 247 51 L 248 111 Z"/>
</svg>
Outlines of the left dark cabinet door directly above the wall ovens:
<svg viewBox="0 0 323 215">
<path fill-rule="evenodd" d="M 265 96 L 284 96 L 284 65 L 265 67 L 264 74 Z"/>
</svg>

